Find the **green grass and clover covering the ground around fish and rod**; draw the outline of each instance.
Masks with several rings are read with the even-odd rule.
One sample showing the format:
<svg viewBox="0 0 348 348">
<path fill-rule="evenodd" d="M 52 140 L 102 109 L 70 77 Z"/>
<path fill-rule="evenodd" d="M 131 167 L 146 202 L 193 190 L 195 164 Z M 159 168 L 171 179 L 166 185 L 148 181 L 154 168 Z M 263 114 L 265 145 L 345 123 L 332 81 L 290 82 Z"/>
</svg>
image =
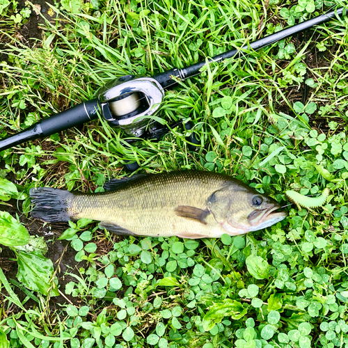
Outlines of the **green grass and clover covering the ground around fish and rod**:
<svg viewBox="0 0 348 348">
<path fill-rule="evenodd" d="M 312 13 L 311 1 L 299 3 L 310 13 L 287 11 L 297 1 L 249 0 L 74 0 L 71 13 L 62 1 L 40 24 L 42 40 L 21 39 L 28 19 L 15 24 L 10 3 L 0 13 L 0 135 L 93 98 L 115 77 L 191 65 L 333 4 L 317 1 Z M 347 348 L 347 26 L 346 17 L 332 20 L 168 90 L 157 116 L 169 126 L 192 120 L 201 141 L 194 152 L 182 127 L 157 142 L 127 143 L 102 119 L 0 152 L 1 209 L 17 198 L 13 217 L 22 220 L 30 219 L 31 187 L 100 191 L 129 175 L 126 161 L 137 161 L 139 173 L 227 173 L 282 205 L 287 189 L 332 192 L 314 214 L 289 206 L 281 223 L 242 237 L 124 238 L 72 223 L 64 237 L 86 265 L 68 271 L 73 282 L 58 289 L 72 297 L 56 310 L 54 265 L 45 271 L 41 254 L 6 244 L 22 284 L 0 273 L 0 347 Z M 24 287 L 29 270 L 40 271 L 40 289 Z"/>
</svg>

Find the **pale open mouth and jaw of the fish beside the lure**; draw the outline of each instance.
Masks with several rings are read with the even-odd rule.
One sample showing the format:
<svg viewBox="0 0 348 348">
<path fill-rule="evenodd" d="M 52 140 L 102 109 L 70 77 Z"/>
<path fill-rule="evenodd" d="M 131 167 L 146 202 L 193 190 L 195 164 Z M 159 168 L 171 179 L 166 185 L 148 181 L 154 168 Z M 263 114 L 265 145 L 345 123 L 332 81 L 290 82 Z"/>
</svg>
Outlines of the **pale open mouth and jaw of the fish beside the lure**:
<svg viewBox="0 0 348 348">
<path fill-rule="evenodd" d="M 266 228 L 274 223 L 282 221 L 287 216 L 283 210 L 278 212 L 280 205 L 270 204 L 264 209 L 255 210 L 248 216 L 248 221 L 252 226 L 257 226 L 258 229 Z"/>
</svg>

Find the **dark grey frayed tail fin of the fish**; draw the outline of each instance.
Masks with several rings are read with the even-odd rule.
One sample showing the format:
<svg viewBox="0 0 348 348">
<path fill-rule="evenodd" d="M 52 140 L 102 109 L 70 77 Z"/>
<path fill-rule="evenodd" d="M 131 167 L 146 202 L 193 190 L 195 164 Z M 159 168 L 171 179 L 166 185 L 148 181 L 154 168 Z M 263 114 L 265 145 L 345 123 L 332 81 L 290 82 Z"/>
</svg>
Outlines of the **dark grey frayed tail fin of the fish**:
<svg viewBox="0 0 348 348">
<path fill-rule="evenodd" d="M 35 205 L 31 216 L 46 222 L 69 221 L 73 193 L 65 190 L 52 189 L 50 187 L 38 187 L 30 189 L 31 203 Z"/>
</svg>

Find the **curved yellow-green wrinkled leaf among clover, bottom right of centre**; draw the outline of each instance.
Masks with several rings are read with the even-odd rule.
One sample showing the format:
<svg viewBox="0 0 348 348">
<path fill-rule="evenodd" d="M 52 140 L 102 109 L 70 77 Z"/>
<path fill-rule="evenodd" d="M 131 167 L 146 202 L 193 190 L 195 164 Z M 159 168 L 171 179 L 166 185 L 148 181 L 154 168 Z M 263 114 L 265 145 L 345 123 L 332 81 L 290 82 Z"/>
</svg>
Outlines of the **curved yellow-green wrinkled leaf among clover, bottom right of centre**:
<svg viewBox="0 0 348 348">
<path fill-rule="evenodd" d="M 203 328 L 205 331 L 209 331 L 215 324 L 221 322 L 223 317 L 239 320 L 246 313 L 247 309 L 244 308 L 242 303 L 232 301 L 231 299 L 224 299 L 222 303 L 214 303 L 210 307 L 208 313 L 203 317 Z"/>
</svg>

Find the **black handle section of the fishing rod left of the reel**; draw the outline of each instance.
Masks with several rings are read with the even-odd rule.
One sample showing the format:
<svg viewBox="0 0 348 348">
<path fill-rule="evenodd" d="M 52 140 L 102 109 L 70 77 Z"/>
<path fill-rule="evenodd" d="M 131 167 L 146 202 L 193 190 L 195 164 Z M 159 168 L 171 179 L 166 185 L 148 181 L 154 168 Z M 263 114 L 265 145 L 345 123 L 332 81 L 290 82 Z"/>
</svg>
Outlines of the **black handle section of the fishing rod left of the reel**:
<svg viewBox="0 0 348 348">
<path fill-rule="evenodd" d="M 70 127 L 82 125 L 85 122 L 97 118 L 98 100 L 93 99 L 88 102 L 78 104 L 71 109 L 57 113 L 40 122 L 35 123 L 24 131 L 13 136 L 8 136 L 0 141 L 0 151 L 12 148 L 15 145 L 31 141 L 45 136 L 50 136 L 54 133 L 61 132 Z"/>
</svg>

